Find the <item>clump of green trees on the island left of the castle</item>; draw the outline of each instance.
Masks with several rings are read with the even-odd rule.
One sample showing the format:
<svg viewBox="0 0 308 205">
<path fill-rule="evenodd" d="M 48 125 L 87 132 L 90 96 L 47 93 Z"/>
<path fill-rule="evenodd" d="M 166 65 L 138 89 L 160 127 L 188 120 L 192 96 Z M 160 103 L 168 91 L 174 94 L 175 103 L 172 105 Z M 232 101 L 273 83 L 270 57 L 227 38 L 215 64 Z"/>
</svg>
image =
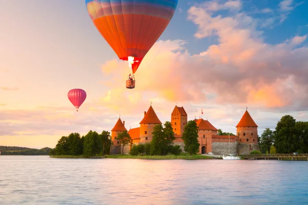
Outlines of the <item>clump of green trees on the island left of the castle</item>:
<svg viewBox="0 0 308 205">
<path fill-rule="evenodd" d="M 79 133 L 71 133 L 62 136 L 54 149 L 49 152 L 53 155 L 83 155 L 86 157 L 109 154 L 111 145 L 110 132 L 103 131 L 101 134 L 90 130 L 85 136 Z"/>
</svg>

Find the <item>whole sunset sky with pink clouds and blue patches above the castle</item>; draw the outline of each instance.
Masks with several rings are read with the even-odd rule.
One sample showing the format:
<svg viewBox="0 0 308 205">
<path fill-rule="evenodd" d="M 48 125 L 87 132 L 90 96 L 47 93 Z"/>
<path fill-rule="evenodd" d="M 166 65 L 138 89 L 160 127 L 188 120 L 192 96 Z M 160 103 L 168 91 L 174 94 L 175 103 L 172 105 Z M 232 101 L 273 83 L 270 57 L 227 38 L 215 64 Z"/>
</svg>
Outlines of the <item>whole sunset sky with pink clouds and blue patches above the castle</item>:
<svg viewBox="0 0 308 205">
<path fill-rule="evenodd" d="M 84 0 L 3 1 L 0 145 L 54 148 L 71 132 L 110 131 L 120 115 L 136 128 L 150 102 L 162 122 L 177 105 L 232 133 L 246 106 L 259 135 L 285 114 L 306 121 L 307 10 L 304 0 L 181 0 L 130 90 L 127 61 Z M 78 113 L 73 88 L 87 92 Z"/>
</svg>

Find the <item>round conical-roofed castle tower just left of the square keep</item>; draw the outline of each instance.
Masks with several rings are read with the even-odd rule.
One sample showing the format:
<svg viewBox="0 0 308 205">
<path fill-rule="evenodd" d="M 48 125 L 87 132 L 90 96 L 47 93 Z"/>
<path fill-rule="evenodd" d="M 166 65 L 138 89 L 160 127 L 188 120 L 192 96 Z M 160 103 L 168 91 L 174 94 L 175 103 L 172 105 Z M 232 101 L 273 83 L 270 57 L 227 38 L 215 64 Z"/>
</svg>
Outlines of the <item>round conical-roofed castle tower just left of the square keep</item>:
<svg viewBox="0 0 308 205">
<path fill-rule="evenodd" d="M 152 141 L 152 132 L 154 126 L 157 124 L 162 124 L 162 122 L 157 117 L 152 106 L 148 109 L 147 112 L 144 112 L 144 117 L 141 120 L 140 124 L 140 143 L 146 143 Z"/>
</svg>

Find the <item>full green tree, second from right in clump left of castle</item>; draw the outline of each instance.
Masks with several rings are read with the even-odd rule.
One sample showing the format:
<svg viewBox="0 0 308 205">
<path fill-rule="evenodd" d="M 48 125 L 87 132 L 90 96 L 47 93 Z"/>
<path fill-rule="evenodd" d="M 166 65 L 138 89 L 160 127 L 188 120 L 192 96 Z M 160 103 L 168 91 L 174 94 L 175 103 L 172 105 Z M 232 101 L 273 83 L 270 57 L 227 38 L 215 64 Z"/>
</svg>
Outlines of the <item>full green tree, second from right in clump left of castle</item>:
<svg viewBox="0 0 308 205">
<path fill-rule="evenodd" d="M 84 156 L 95 156 L 102 151 L 102 137 L 96 132 L 90 130 L 84 138 Z"/>
</svg>

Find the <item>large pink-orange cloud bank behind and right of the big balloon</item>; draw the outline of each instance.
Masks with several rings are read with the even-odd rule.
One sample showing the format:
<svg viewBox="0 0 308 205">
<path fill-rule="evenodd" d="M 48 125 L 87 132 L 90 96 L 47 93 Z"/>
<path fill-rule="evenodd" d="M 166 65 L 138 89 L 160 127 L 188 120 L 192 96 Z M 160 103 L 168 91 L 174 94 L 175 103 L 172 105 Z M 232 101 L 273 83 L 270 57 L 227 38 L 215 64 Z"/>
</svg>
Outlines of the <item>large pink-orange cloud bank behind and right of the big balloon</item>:
<svg viewBox="0 0 308 205">
<path fill-rule="evenodd" d="M 237 6 L 214 1 L 190 7 L 188 19 L 198 26 L 195 36 L 216 36 L 218 44 L 192 55 L 184 40 L 157 42 L 137 71 L 133 90 L 125 89 L 129 73 L 126 61 L 111 60 L 104 64 L 102 72 L 110 75 L 104 85 L 110 90 L 102 103 L 121 110 L 123 99 L 134 110 L 143 99 L 156 98 L 161 102 L 201 101 L 281 111 L 308 109 L 308 49 L 300 47 L 306 37 L 294 36 L 281 44 L 266 44 L 255 19 L 240 12 L 240 2 L 234 2 L 237 3 L 232 5 Z M 212 13 L 235 8 L 237 13 L 226 16 Z M 161 45 L 163 48 L 155 57 Z M 110 65 L 117 69 L 111 70 Z"/>
</svg>

